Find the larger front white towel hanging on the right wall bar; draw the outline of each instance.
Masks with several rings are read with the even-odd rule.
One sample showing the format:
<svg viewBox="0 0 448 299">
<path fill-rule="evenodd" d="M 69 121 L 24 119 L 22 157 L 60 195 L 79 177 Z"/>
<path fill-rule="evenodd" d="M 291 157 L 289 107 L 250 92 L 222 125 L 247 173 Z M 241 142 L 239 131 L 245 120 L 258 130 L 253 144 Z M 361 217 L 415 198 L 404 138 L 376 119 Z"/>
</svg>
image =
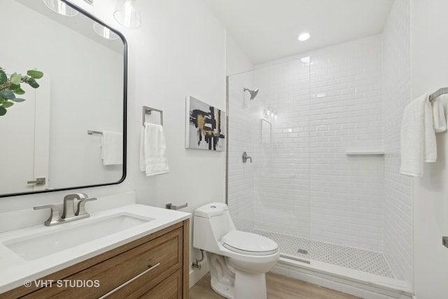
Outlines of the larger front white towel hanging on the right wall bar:
<svg viewBox="0 0 448 299">
<path fill-rule="evenodd" d="M 433 109 L 428 97 L 422 95 L 405 108 L 400 130 L 402 174 L 423 176 L 423 162 L 437 159 Z"/>
</svg>

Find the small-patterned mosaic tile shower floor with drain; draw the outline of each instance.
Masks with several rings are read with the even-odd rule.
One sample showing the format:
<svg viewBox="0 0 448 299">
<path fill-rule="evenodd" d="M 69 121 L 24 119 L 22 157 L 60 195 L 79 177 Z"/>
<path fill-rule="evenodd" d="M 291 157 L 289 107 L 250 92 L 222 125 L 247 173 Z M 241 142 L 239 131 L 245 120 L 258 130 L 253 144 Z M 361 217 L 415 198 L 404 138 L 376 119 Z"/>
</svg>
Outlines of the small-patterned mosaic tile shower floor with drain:
<svg viewBox="0 0 448 299">
<path fill-rule="evenodd" d="M 280 252 L 290 256 L 307 260 L 318 260 L 323 263 L 395 278 L 386 259 L 379 252 L 281 235 L 265 230 L 253 230 L 253 232 L 273 239 L 279 244 Z M 307 250 L 308 253 L 299 253 L 297 252 L 299 249 Z"/>
</svg>

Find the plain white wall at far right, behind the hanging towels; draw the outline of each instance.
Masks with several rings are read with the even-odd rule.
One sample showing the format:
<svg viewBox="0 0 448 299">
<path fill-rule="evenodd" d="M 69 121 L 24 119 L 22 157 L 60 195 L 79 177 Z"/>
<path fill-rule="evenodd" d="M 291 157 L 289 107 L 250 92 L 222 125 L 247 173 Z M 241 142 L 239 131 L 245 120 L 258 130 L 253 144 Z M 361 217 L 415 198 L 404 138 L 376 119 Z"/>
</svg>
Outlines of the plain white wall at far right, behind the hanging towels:
<svg viewBox="0 0 448 299">
<path fill-rule="evenodd" d="M 448 86 L 448 2 L 411 1 L 412 98 Z M 444 105 L 447 96 L 443 96 Z M 448 294 L 447 132 L 437 134 L 437 162 L 414 179 L 414 290 L 417 299 Z"/>
</svg>

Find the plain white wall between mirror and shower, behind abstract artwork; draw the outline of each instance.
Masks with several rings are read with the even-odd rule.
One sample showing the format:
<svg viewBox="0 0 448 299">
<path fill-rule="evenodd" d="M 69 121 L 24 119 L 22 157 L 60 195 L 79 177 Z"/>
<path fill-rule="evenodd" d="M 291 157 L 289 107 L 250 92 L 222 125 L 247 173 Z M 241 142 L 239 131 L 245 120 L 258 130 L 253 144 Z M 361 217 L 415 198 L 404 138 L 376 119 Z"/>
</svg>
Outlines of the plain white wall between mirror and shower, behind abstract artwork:
<svg viewBox="0 0 448 299">
<path fill-rule="evenodd" d="M 225 31 L 200 1 L 141 1 L 141 28 L 129 43 L 128 159 L 141 203 L 223 202 L 225 152 L 185 148 L 186 96 L 225 111 Z M 163 111 L 170 172 L 138 171 L 141 106 Z M 148 118 L 149 119 L 149 118 Z"/>
</svg>

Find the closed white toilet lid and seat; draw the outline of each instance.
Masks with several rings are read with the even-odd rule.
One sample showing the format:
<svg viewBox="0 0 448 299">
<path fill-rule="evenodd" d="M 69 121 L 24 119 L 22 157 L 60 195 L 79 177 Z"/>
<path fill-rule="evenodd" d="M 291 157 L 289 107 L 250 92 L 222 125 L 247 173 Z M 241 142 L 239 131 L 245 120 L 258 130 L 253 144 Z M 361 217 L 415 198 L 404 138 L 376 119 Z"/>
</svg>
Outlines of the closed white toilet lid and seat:
<svg viewBox="0 0 448 299">
<path fill-rule="evenodd" d="M 278 251 L 278 245 L 267 237 L 231 230 L 221 239 L 221 244 L 231 251 L 249 256 L 267 256 Z"/>
</svg>

